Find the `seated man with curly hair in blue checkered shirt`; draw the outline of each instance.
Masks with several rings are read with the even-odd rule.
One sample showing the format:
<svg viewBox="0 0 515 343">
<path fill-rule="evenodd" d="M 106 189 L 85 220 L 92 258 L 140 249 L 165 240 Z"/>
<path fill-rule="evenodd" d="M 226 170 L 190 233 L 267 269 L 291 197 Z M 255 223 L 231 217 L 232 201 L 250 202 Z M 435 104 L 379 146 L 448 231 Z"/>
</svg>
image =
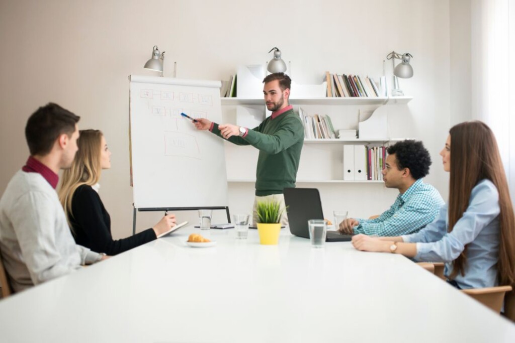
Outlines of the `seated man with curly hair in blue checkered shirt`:
<svg viewBox="0 0 515 343">
<path fill-rule="evenodd" d="M 431 223 L 444 205 L 436 188 L 422 181 L 429 172 L 431 156 L 421 141 L 400 141 L 387 151 L 383 180 L 386 187 L 399 190 L 396 201 L 375 219 L 342 221 L 339 231 L 391 237 L 415 233 Z"/>
</svg>

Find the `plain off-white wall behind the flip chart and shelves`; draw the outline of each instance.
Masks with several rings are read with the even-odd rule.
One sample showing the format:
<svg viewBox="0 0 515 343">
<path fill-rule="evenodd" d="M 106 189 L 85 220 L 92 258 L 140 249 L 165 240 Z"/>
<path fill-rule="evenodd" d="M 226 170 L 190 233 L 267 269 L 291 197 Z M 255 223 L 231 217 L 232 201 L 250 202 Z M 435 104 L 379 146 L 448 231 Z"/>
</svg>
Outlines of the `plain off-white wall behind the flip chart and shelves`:
<svg viewBox="0 0 515 343">
<path fill-rule="evenodd" d="M 2 1 L 0 3 L 0 189 L 28 156 L 23 129 L 38 106 L 55 101 L 81 116 L 80 128 L 104 131 L 113 152 L 101 196 L 113 235 L 132 227 L 129 187 L 128 75 L 144 70 L 153 45 L 178 77 L 228 79 L 238 64 L 264 63 L 278 46 L 297 83 L 319 83 L 325 70 L 379 77 L 392 50 L 410 52 L 415 75 L 401 80 L 414 100 L 392 115 L 392 136 L 422 139 L 433 157 L 427 182 L 447 198 L 440 151 L 450 127 L 449 1 Z M 389 61 L 388 61 L 389 62 Z M 386 64 L 391 76 L 391 62 Z M 292 90 L 295 92 L 295 89 Z M 366 216 L 396 196 L 381 185 L 320 187 L 325 208 Z M 251 185 L 231 185 L 232 211 L 249 206 Z M 376 198 L 376 193 L 382 193 Z M 341 196 L 338 196 L 341 194 Z M 350 206 L 350 205 L 348 205 Z M 158 213 L 139 214 L 148 227 Z M 192 220 L 194 214 L 181 214 Z"/>
</svg>

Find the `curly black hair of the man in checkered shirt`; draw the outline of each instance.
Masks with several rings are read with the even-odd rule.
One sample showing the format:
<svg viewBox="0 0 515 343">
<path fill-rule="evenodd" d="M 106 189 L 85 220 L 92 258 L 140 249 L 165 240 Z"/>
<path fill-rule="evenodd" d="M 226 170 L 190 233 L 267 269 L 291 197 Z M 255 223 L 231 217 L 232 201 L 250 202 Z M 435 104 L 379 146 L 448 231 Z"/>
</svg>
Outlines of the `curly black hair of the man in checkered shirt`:
<svg viewBox="0 0 515 343">
<path fill-rule="evenodd" d="M 403 140 L 387 149 L 388 155 L 395 154 L 397 168 L 408 168 L 409 172 L 418 180 L 429 173 L 431 156 L 419 140 Z"/>
</svg>

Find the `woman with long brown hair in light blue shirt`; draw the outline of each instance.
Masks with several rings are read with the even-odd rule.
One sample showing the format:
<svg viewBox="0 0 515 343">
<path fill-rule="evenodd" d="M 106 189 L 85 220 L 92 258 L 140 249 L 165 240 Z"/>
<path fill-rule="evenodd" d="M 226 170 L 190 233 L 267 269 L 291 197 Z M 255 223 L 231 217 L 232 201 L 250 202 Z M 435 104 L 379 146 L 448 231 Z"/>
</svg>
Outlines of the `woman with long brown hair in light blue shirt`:
<svg viewBox="0 0 515 343">
<path fill-rule="evenodd" d="M 457 124 L 440 155 L 451 179 L 449 203 L 437 219 L 418 233 L 359 234 L 352 244 L 363 251 L 445 262 L 448 282 L 460 289 L 515 286 L 515 216 L 492 131 L 480 121 Z"/>
</svg>

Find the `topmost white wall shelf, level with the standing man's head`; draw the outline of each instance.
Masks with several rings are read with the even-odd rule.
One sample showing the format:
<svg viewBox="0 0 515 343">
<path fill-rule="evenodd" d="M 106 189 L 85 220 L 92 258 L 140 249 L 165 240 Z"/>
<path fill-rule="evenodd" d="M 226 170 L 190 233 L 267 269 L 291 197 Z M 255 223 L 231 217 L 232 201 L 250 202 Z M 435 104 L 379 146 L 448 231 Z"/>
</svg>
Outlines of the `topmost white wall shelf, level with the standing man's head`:
<svg viewBox="0 0 515 343">
<path fill-rule="evenodd" d="M 386 105 L 407 104 L 413 97 L 390 97 L 390 98 L 367 98 L 367 97 L 344 97 L 344 98 L 310 98 L 310 99 L 289 99 L 292 105 Z M 220 98 L 222 105 L 265 105 L 262 98 Z"/>
</svg>

